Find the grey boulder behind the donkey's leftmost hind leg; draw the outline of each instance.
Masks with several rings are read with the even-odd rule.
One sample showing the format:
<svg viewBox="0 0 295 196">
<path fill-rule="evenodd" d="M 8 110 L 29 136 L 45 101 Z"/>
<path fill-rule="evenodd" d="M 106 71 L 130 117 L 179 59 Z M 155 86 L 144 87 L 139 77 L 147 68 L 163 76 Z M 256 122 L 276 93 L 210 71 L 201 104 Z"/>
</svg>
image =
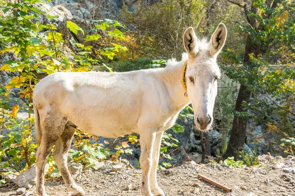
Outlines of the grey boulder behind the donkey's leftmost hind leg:
<svg viewBox="0 0 295 196">
<path fill-rule="evenodd" d="M 49 165 L 45 165 L 45 173 L 48 172 Z M 28 170 L 18 175 L 13 182 L 20 188 L 30 189 L 37 182 L 37 166 L 31 165 Z"/>
</svg>

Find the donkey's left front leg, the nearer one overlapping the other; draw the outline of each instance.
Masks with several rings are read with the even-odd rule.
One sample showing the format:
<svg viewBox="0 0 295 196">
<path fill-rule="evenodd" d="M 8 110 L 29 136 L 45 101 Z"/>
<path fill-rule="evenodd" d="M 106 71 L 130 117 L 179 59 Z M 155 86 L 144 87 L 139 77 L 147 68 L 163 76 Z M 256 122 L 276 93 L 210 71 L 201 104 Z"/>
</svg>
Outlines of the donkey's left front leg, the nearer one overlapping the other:
<svg viewBox="0 0 295 196">
<path fill-rule="evenodd" d="M 140 166 L 142 168 L 142 188 L 144 196 L 153 196 L 149 187 L 149 174 L 152 165 L 152 148 L 155 141 L 156 132 L 146 129 L 140 131 L 141 156 Z"/>
</svg>

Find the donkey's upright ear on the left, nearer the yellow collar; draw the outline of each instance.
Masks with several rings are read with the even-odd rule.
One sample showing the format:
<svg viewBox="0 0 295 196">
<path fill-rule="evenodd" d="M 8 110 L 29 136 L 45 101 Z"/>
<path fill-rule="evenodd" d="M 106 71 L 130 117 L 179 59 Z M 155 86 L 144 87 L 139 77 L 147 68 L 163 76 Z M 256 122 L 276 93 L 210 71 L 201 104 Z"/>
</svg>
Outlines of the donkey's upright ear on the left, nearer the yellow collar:
<svg viewBox="0 0 295 196">
<path fill-rule="evenodd" d="M 197 36 L 193 27 L 188 27 L 183 34 L 183 45 L 189 57 L 195 57 L 199 51 Z"/>
</svg>

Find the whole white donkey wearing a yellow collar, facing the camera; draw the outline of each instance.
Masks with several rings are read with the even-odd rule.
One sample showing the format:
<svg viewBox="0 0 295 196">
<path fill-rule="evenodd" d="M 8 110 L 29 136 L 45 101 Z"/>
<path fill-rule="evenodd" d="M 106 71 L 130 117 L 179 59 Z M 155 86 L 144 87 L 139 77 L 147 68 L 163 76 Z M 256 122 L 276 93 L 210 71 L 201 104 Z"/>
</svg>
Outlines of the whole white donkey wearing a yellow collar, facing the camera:
<svg viewBox="0 0 295 196">
<path fill-rule="evenodd" d="M 54 73 L 34 89 L 38 177 L 36 192 L 47 196 L 44 166 L 51 148 L 53 158 L 70 192 L 85 196 L 68 167 L 67 154 L 76 127 L 103 137 L 132 132 L 140 134 L 144 196 L 164 196 L 157 183 L 157 165 L 163 132 L 178 113 L 192 103 L 198 129 L 212 124 L 217 78 L 216 57 L 226 40 L 227 30 L 219 24 L 209 43 L 197 39 L 192 27 L 183 34 L 187 54 L 181 62 L 171 60 L 165 69 L 128 73 Z M 42 127 L 42 129 L 41 129 Z"/>
</svg>

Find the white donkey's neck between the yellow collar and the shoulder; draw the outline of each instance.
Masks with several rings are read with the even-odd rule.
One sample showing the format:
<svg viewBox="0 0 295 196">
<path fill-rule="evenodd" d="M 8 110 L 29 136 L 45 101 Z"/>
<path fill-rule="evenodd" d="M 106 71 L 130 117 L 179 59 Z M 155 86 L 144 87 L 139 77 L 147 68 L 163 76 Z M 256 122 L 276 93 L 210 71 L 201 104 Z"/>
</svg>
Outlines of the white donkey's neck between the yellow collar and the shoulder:
<svg viewBox="0 0 295 196">
<path fill-rule="evenodd" d="M 175 106 L 176 110 L 181 110 L 184 106 L 189 103 L 189 99 L 184 96 L 185 90 L 180 83 L 182 79 L 182 68 L 185 60 L 181 62 L 169 62 L 165 69 L 157 72 L 159 79 L 166 86 L 172 105 Z"/>
</svg>

